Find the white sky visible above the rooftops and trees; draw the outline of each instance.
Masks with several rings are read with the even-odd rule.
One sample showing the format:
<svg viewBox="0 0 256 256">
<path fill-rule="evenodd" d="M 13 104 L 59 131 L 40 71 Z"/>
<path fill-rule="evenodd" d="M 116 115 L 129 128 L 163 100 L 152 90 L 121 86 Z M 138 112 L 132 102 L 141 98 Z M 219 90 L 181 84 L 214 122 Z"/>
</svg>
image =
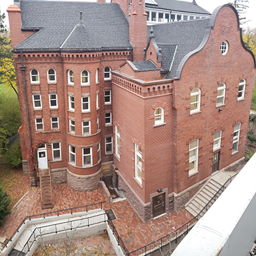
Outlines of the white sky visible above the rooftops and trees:
<svg viewBox="0 0 256 256">
<path fill-rule="evenodd" d="M 64 0 L 64 1 L 72 1 L 72 0 Z M 95 2 L 96 0 L 92 0 L 91 2 Z M 107 0 L 107 2 L 109 2 L 110 0 Z M 189 2 L 192 2 L 192 0 L 186 0 Z M 201 6 L 202 8 L 204 8 L 205 10 L 207 10 L 208 12 L 213 12 L 214 9 L 217 6 L 223 5 L 223 4 L 227 4 L 228 2 L 233 2 L 234 0 L 196 0 L 196 3 Z M 13 0 L 1 0 L 0 1 L 0 10 L 1 10 L 1 14 L 5 13 L 6 17 L 8 17 L 8 13 L 6 12 L 6 9 L 8 8 L 8 6 L 10 4 L 13 4 Z M 255 11 L 256 11 L 256 1 L 255 0 L 249 0 L 249 9 L 247 10 L 247 14 L 246 14 L 246 20 L 251 20 L 250 22 L 246 23 L 245 26 L 250 26 L 251 28 L 256 28 L 256 15 L 255 15 Z M 8 19 L 5 19 L 4 24 L 8 25 Z"/>
</svg>

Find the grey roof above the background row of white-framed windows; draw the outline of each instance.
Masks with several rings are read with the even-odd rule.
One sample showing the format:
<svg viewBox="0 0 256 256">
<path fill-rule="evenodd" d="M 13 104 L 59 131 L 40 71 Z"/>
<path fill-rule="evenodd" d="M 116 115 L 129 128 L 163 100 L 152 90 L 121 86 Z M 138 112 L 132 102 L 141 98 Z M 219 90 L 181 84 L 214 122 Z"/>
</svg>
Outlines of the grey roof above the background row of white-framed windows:
<svg viewBox="0 0 256 256">
<path fill-rule="evenodd" d="M 197 4 L 193 4 L 192 2 L 177 1 L 177 0 L 155 0 L 155 1 L 157 5 L 149 4 L 150 2 L 146 0 L 145 1 L 146 7 L 173 10 L 177 12 L 188 12 L 188 13 L 211 15 L 211 13 L 204 10 L 204 8 L 198 6 Z"/>
</svg>

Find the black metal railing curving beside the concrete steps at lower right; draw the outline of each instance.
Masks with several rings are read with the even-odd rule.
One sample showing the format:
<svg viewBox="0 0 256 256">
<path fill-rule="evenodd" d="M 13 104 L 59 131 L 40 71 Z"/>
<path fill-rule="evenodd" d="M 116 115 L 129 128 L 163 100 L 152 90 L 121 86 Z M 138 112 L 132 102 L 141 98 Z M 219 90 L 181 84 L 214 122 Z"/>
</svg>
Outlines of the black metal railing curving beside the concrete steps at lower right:
<svg viewBox="0 0 256 256">
<path fill-rule="evenodd" d="M 126 255 L 127 256 L 147 255 L 148 253 L 152 253 L 152 252 L 156 251 L 159 248 L 163 248 L 163 246 L 165 246 L 166 244 L 170 243 L 170 241 L 173 241 L 174 239 L 175 239 L 175 243 L 177 243 L 177 238 L 180 235 L 184 234 L 184 233 L 188 234 L 189 229 L 191 227 L 193 227 L 193 225 L 196 223 L 196 221 L 198 221 L 200 219 L 202 212 L 203 213 L 207 212 L 207 210 L 211 207 L 213 202 L 215 202 L 217 200 L 218 194 L 222 193 L 225 190 L 225 188 L 227 187 L 228 183 L 230 184 L 232 179 L 234 179 L 234 177 L 236 177 L 237 174 L 238 173 L 236 173 L 235 175 L 230 177 L 223 184 L 223 186 L 221 186 L 221 188 L 218 189 L 218 191 L 214 194 L 214 196 L 212 196 L 212 198 L 209 200 L 209 202 L 202 208 L 202 210 L 193 219 L 189 220 L 187 223 L 185 223 L 181 227 L 175 229 L 171 234 L 168 234 L 168 235 L 166 235 L 164 237 L 161 237 L 157 241 L 154 241 L 154 242 L 152 242 L 150 244 L 147 244 L 147 245 L 141 247 L 140 249 L 134 250 L 133 252 L 129 252 Z"/>
</svg>

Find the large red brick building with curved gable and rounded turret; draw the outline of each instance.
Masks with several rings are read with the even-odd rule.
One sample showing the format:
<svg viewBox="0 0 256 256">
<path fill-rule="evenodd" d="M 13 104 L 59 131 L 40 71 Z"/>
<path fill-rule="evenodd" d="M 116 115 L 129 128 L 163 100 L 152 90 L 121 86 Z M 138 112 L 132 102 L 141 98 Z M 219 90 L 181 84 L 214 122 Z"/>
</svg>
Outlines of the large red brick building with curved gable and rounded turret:
<svg viewBox="0 0 256 256">
<path fill-rule="evenodd" d="M 23 168 L 35 184 L 39 145 L 52 184 L 88 191 L 112 175 L 146 221 L 243 166 L 255 59 L 228 4 L 147 27 L 144 0 L 119 2 L 8 8 Z"/>
</svg>

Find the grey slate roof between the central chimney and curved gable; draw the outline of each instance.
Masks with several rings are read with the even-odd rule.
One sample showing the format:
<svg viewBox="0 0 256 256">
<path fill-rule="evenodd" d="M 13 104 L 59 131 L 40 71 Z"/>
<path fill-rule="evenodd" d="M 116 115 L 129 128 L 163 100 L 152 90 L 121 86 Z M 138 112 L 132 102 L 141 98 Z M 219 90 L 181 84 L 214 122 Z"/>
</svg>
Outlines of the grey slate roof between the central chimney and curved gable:
<svg viewBox="0 0 256 256">
<path fill-rule="evenodd" d="M 166 79 L 175 77 L 177 68 L 184 56 L 201 44 L 209 20 L 184 20 L 147 26 L 148 36 L 150 36 L 150 30 L 153 28 L 156 43 L 162 50 L 162 70 L 168 72 Z M 170 70 L 171 63 L 172 68 Z"/>
</svg>

